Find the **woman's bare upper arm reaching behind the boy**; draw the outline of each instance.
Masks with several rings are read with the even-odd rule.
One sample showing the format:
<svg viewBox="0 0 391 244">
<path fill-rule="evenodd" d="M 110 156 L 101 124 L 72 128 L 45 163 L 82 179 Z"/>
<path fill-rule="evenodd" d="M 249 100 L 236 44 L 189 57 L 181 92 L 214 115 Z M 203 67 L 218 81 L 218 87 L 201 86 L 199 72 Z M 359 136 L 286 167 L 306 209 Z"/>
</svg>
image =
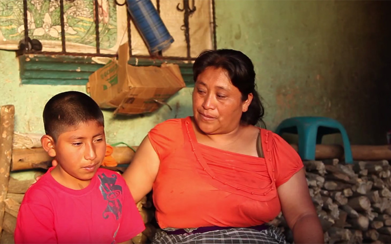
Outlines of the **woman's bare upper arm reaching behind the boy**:
<svg viewBox="0 0 391 244">
<path fill-rule="evenodd" d="M 152 190 L 159 164 L 159 157 L 146 136 L 138 147 L 129 167 L 122 175 L 136 203 Z"/>
</svg>

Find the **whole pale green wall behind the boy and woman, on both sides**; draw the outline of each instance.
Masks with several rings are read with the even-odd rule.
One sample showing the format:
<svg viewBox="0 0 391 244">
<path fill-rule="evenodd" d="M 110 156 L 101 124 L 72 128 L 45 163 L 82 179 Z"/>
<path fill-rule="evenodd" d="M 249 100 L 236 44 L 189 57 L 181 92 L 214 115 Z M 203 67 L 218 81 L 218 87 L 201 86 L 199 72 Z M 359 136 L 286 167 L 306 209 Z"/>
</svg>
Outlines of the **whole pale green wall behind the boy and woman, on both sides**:
<svg viewBox="0 0 391 244">
<path fill-rule="evenodd" d="M 346 125 L 352 142 L 383 143 L 391 128 L 390 112 L 381 110 L 391 105 L 384 82 L 390 80 L 389 9 L 388 1 L 217 0 L 217 46 L 254 61 L 269 129 L 291 116 L 329 116 Z M 0 90 L 0 104 L 16 106 L 17 131 L 43 132 L 45 102 L 85 88 L 20 85 L 15 54 L 0 51 Z M 165 106 L 143 118 L 105 112 L 108 142 L 135 145 L 156 123 L 191 115 L 191 88 L 169 104 L 173 112 Z"/>
</svg>

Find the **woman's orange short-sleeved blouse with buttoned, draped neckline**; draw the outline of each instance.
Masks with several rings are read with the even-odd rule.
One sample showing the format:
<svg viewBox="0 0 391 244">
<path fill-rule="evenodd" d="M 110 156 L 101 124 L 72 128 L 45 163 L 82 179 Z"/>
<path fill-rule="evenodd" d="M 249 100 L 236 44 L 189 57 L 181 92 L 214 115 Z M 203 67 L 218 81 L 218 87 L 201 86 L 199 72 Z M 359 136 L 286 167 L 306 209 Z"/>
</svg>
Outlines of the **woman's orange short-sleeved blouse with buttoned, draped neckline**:
<svg viewBox="0 0 391 244">
<path fill-rule="evenodd" d="M 198 143 L 190 117 L 156 125 L 148 137 L 160 159 L 153 183 L 160 227 L 248 227 L 273 220 L 281 211 L 277 187 L 303 163 L 281 137 L 260 130 L 264 158 Z"/>
</svg>

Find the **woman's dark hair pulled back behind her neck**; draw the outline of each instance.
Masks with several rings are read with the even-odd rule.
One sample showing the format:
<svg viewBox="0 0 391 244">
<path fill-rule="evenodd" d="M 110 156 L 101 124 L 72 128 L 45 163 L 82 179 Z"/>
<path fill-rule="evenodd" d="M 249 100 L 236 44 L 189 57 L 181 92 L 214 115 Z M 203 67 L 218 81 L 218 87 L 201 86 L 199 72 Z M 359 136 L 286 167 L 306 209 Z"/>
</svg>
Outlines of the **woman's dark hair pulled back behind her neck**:
<svg viewBox="0 0 391 244">
<path fill-rule="evenodd" d="M 253 100 L 248 110 L 242 114 L 240 122 L 252 125 L 261 122 L 261 125 L 264 126 L 264 122 L 262 121 L 264 109 L 257 92 L 254 65 L 250 58 L 242 52 L 232 49 L 203 51 L 193 65 L 194 81 L 208 67 L 226 70 L 232 84 L 239 89 L 242 101 L 247 100 L 248 94 L 253 94 Z"/>
</svg>

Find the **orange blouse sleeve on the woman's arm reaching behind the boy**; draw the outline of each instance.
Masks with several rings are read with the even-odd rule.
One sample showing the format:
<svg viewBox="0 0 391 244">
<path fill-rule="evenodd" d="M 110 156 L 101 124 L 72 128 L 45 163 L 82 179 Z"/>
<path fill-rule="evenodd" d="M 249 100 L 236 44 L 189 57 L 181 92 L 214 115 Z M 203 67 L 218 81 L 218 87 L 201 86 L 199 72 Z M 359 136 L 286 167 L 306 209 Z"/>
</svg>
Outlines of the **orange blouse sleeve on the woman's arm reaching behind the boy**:
<svg viewBox="0 0 391 244">
<path fill-rule="evenodd" d="M 178 144 L 183 143 L 181 121 L 173 119 L 157 124 L 148 133 L 148 138 L 159 159 L 163 160 Z"/>
</svg>

